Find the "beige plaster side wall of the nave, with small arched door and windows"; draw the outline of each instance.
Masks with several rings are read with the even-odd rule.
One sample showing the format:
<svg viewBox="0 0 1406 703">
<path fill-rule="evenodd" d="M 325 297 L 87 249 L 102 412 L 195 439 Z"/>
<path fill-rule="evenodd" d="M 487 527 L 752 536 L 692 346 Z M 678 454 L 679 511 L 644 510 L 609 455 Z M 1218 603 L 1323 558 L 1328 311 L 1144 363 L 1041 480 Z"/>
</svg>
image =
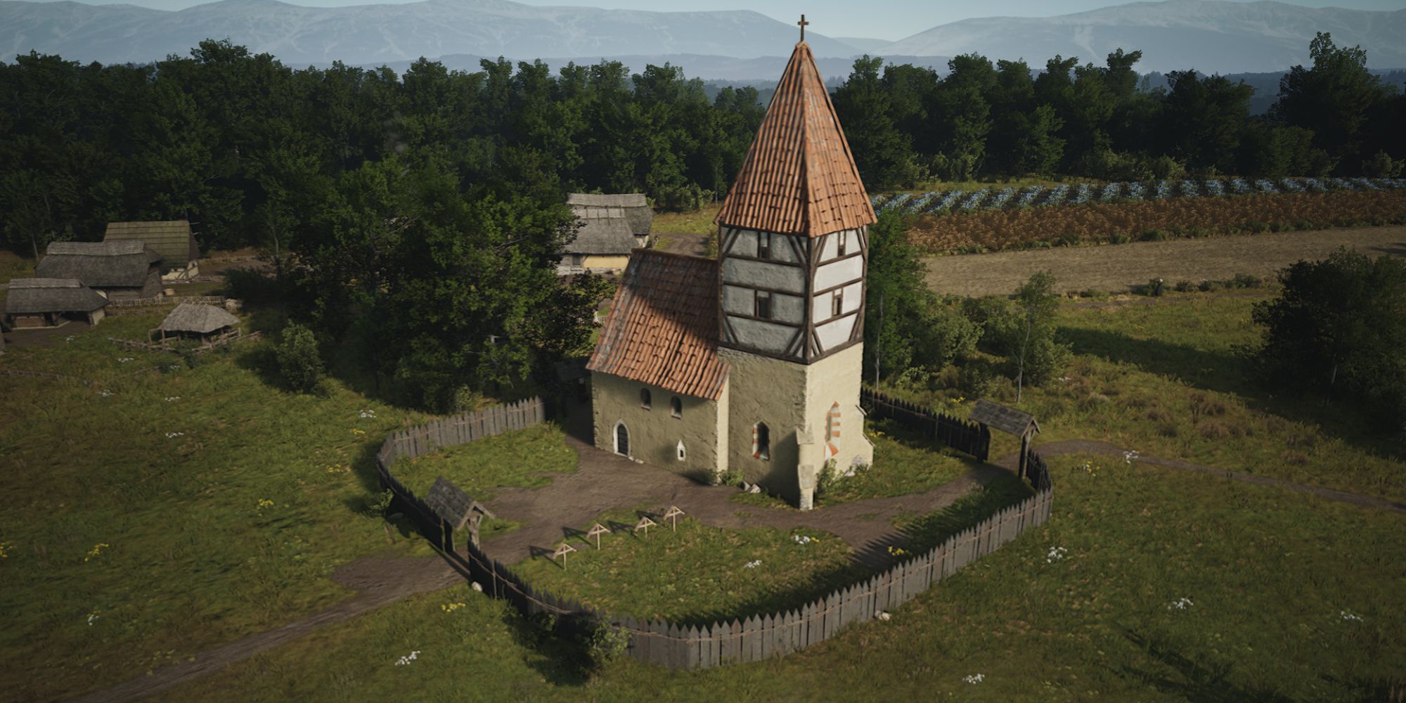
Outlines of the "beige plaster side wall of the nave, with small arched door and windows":
<svg viewBox="0 0 1406 703">
<path fill-rule="evenodd" d="M 650 388 L 647 411 L 640 405 L 640 388 Z M 595 425 L 596 447 L 614 450 L 614 427 L 624 422 L 630 430 L 630 456 L 647 464 L 673 471 L 716 472 L 727 468 L 725 437 L 718 429 L 727 426 L 725 394 L 717 402 L 682 395 L 655 385 L 641 384 L 600 371 L 591 374 L 591 415 Z M 669 399 L 683 402 L 682 418 L 672 416 Z M 685 460 L 678 460 L 678 444 L 683 441 Z"/>
</svg>

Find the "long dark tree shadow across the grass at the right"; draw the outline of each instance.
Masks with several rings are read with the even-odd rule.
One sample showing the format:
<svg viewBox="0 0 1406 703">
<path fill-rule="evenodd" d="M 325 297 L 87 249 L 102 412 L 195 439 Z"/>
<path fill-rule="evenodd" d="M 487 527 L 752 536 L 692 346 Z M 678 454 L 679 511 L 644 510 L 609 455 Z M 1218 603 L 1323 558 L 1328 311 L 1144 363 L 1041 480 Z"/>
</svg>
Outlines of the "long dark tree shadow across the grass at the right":
<svg viewBox="0 0 1406 703">
<path fill-rule="evenodd" d="M 1156 339 L 1133 339 L 1107 330 L 1060 328 L 1059 333 L 1074 344 L 1076 354 L 1128 363 L 1204 391 L 1234 394 L 1254 411 L 1317 425 L 1324 433 L 1381 457 L 1395 460 L 1403 457 L 1400 439 L 1372 432 L 1371 418 L 1353 408 L 1350 402 L 1329 404 L 1320 396 L 1296 395 L 1292 385 L 1260 384 L 1246 360 L 1234 354 Z M 1278 398 L 1275 391 L 1279 394 Z"/>
</svg>

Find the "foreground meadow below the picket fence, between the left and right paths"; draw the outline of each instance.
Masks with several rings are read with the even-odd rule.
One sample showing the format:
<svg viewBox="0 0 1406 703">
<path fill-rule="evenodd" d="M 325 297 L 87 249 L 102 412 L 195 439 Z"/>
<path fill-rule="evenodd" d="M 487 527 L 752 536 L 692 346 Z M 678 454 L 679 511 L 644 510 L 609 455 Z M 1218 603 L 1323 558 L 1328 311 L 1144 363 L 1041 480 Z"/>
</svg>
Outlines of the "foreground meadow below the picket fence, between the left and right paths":
<svg viewBox="0 0 1406 703">
<path fill-rule="evenodd" d="M 588 679 L 506 605 L 454 588 L 159 699 L 1385 700 L 1400 685 L 1400 515 L 1121 460 L 1050 464 L 1049 523 L 891 620 L 782 659 L 623 659 Z"/>
</svg>

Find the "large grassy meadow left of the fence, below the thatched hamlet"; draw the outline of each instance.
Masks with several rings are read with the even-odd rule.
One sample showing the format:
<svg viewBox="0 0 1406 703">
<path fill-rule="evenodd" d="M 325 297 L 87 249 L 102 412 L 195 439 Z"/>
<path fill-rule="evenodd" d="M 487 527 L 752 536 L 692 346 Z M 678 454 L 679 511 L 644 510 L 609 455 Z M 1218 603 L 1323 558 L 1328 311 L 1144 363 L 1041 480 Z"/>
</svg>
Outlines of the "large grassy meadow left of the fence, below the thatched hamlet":
<svg viewBox="0 0 1406 703">
<path fill-rule="evenodd" d="M 337 382 L 283 392 L 249 344 L 190 368 L 105 339 L 160 315 L 0 357 L 107 381 L 0 375 L 0 689 L 17 700 L 115 683 L 321 610 L 349 595 L 328 576 L 356 557 L 429 553 L 366 515 L 384 433 L 422 415 Z"/>
</svg>

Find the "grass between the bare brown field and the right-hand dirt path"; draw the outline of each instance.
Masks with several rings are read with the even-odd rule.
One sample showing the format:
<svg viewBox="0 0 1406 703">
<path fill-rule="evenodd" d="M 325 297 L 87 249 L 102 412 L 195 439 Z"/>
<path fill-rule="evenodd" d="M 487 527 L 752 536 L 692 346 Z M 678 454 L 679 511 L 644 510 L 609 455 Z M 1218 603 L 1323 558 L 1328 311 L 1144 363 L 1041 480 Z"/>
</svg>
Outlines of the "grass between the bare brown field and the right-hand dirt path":
<svg viewBox="0 0 1406 703">
<path fill-rule="evenodd" d="M 1376 434 L 1344 404 L 1265 387 L 1250 377 L 1237 344 L 1257 340 L 1250 309 L 1277 295 L 1241 291 L 1175 294 L 1114 307 L 1064 304 L 1057 314 L 1074 361 L 1062 381 L 1026 388 L 1022 409 L 1045 433 L 1036 440 L 1094 439 L 1143 454 L 1294 482 L 1406 499 L 1402 437 Z M 931 404 L 950 392 L 904 392 Z M 1014 384 L 994 399 L 1014 405 Z M 1018 450 L 993 433 L 991 456 Z"/>
</svg>

